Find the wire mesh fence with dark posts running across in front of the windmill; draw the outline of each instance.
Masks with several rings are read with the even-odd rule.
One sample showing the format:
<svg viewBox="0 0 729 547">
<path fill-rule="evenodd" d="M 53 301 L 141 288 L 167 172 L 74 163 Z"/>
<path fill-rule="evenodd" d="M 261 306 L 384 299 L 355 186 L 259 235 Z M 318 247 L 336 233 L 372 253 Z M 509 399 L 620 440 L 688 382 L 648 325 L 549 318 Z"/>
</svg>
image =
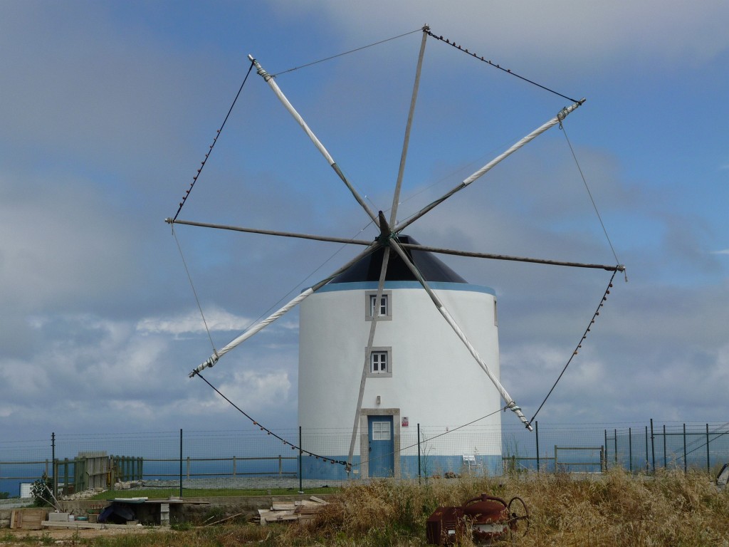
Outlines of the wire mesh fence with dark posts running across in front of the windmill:
<svg viewBox="0 0 729 547">
<path fill-rule="evenodd" d="M 57 493 L 102 489 L 292 492 L 394 476 L 633 473 L 660 468 L 706 470 L 729 459 L 729 424 L 648 423 L 472 425 L 413 424 L 389 438 L 351 430 L 51 433 L 47 439 L 0 441 L 0 497 L 28 497 L 42 476 Z M 382 446 L 378 447 L 378 444 Z M 351 446 L 351 457 L 349 447 Z M 208 494 L 209 495 L 209 494 Z"/>
</svg>

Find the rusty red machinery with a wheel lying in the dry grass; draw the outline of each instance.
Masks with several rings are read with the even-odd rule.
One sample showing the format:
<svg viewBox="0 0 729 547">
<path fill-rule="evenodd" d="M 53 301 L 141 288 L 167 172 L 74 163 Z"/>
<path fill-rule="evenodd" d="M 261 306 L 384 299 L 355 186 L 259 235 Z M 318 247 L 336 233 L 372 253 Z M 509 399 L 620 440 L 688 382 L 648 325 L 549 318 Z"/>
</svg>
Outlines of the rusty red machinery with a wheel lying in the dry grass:
<svg viewBox="0 0 729 547">
<path fill-rule="evenodd" d="M 460 507 L 439 507 L 426 522 L 428 543 L 440 546 L 452 545 L 469 531 L 475 543 L 488 543 L 509 533 L 526 534 L 528 529 L 529 510 L 521 497 L 512 497 L 506 503 L 500 497 L 487 494 L 474 497 Z"/>
</svg>

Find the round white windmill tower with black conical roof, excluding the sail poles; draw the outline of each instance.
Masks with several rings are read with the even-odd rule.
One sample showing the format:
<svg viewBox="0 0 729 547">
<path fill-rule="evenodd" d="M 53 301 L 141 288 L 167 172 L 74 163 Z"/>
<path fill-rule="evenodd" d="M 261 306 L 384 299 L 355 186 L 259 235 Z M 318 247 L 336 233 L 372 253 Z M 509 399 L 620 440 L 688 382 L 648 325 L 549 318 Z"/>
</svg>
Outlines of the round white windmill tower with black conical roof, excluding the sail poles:
<svg viewBox="0 0 729 547">
<path fill-rule="evenodd" d="M 408 236 L 398 241 L 417 245 Z M 299 424 L 304 446 L 317 454 L 346 459 L 354 445 L 351 461 L 362 476 L 417 476 L 416 451 L 403 450 L 402 433 L 410 420 L 411 431 L 416 423 L 458 427 L 465 416 L 480 417 L 485 408 L 501 408 L 501 397 L 399 255 L 389 260 L 378 297 L 384 254 L 381 248 L 362 258 L 301 304 Z M 494 290 L 467 283 L 429 252 L 413 248 L 407 254 L 498 378 Z M 375 315 L 377 329 L 370 344 L 367 337 Z M 353 426 L 355 401 L 359 413 Z M 463 435 L 431 441 L 431 468 L 457 472 L 464 454 L 477 452 L 482 468 L 499 470 L 501 415 L 497 411 L 479 424 L 489 434 L 476 441 Z M 321 438 L 321 432 L 345 427 L 359 435 Z M 305 465 L 307 477 L 332 478 L 330 466 L 319 460 L 308 458 Z"/>
</svg>

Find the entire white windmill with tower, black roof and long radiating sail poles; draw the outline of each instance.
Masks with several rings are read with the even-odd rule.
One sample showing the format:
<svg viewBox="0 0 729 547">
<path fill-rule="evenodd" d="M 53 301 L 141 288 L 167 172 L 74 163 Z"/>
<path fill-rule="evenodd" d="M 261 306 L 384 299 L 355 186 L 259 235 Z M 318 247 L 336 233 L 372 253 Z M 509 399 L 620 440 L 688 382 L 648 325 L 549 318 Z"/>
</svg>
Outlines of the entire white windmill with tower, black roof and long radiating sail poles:
<svg viewBox="0 0 729 547">
<path fill-rule="evenodd" d="M 213 366 L 225 353 L 271 322 L 302 304 L 300 310 L 299 423 L 305 431 L 351 427 L 351 437 L 332 441 L 326 449 L 308 451 L 316 439 L 305 438 L 308 454 L 316 453 L 329 463 L 346 463 L 346 470 L 357 465 L 362 476 L 407 475 L 410 465 L 400 457 L 399 433 L 403 419 L 430 424 L 463 424 L 489 411 L 487 422 L 499 431 L 503 408 L 513 411 L 531 430 L 531 422 L 521 412 L 499 380 L 499 343 L 494 290 L 467 283 L 437 259 L 434 254 L 521 260 L 609 271 L 623 271 L 622 265 L 566 263 L 522 257 L 506 257 L 485 253 L 461 252 L 452 249 L 425 247 L 405 235 L 404 230 L 479 179 L 582 104 L 574 101 L 547 123 L 512 145 L 494 160 L 475 171 L 441 198 L 429 203 L 407 220 L 398 222 L 397 206 L 408 155 L 410 127 L 424 58 L 426 39 L 434 36 L 428 26 L 422 28 L 415 84 L 405 130 L 405 142 L 399 164 L 397 182 L 389 210 L 375 214 L 343 174 L 330 152 L 311 131 L 297 110 L 252 56 L 251 68 L 265 79 L 271 90 L 303 128 L 314 146 L 327 160 L 335 174 L 362 206 L 365 214 L 378 227 L 374 241 L 351 238 L 311 236 L 256 228 L 238 228 L 203 222 L 166 219 L 170 224 L 196 225 L 274 236 L 309 238 L 358 244 L 364 251 L 326 279 L 309 287 L 278 311 L 246 330 L 230 344 L 218 349 L 190 373 L 200 374 Z M 448 42 L 445 40 L 448 44 Z M 461 50 L 461 47 L 451 44 Z M 464 50 L 465 51 L 465 50 Z M 466 52 L 467 53 L 467 52 Z M 473 54 L 469 54 L 473 55 Z M 481 58 L 483 61 L 483 58 Z M 491 61 L 486 61 L 492 64 Z M 496 66 L 496 65 L 494 65 Z M 501 68 L 501 67 L 498 67 Z M 212 148 L 212 147 L 211 147 Z M 209 154 L 209 152 L 208 152 Z M 206 155 L 207 158 L 207 155 Z M 205 161 L 203 161 L 203 166 Z M 199 174 L 200 171 L 198 171 Z M 195 183 L 193 179 L 193 185 Z M 192 188 L 192 187 L 191 187 Z M 190 193 L 188 190 L 187 194 Z M 187 198 L 187 195 L 185 196 Z M 180 209 L 182 209 L 180 203 Z M 178 209 L 178 214 L 180 212 Z M 588 329 L 589 330 L 589 329 Z M 584 336 L 583 336 L 584 338 Z M 475 362 L 475 363 L 474 363 Z M 448 380 L 450 386 L 444 386 Z M 501 402 L 503 401 L 503 403 Z M 316 435 L 316 433 L 313 433 Z M 382 441 L 385 444 L 378 443 Z M 470 449 L 472 450 L 472 446 Z M 373 457 L 371 450 L 378 453 Z M 436 449 L 443 468 L 462 462 L 466 447 L 458 443 L 443 444 Z M 496 469 L 501 460 L 499 437 L 479 449 L 488 467 Z M 376 461 L 376 463 L 375 463 Z M 309 470 L 312 476 L 316 469 Z M 332 477 L 332 471 L 327 475 Z"/>
</svg>

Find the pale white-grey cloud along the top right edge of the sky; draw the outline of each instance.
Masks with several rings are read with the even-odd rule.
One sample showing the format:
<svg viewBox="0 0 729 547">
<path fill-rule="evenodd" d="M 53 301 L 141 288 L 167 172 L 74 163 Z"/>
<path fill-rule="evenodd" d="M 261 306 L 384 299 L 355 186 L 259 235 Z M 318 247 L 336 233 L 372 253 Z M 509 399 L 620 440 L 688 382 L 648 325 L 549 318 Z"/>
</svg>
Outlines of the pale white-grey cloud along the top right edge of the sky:
<svg viewBox="0 0 729 547">
<path fill-rule="evenodd" d="M 319 1 L 292 6 L 279 2 L 281 15 L 290 18 L 300 12 L 319 12 L 335 21 L 348 44 L 372 39 L 373 26 L 362 25 L 373 12 L 379 18 L 379 35 L 399 34 L 428 23 L 434 34 L 456 39 L 471 50 L 497 54 L 502 63 L 521 59 L 534 62 L 534 52 L 549 52 L 559 63 L 580 64 L 580 72 L 604 69 L 618 58 L 652 59 L 668 63 L 701 62 L 725 51 L 729 39 L 723 22 L 729 16 L 725 2 L 703 2 L 697 9 L 680 0 L 612 1 L 585 5 L 579 0 L 541 2 L 483 2 L 478 0 L 444 4 L 437 0 Z M 410 23 L 409 26 L 405 26 Z M 619 39 L 618 39 L 619 37 Z M 511 67 L 515 69 L 514 66 Z"/>
</svg>

